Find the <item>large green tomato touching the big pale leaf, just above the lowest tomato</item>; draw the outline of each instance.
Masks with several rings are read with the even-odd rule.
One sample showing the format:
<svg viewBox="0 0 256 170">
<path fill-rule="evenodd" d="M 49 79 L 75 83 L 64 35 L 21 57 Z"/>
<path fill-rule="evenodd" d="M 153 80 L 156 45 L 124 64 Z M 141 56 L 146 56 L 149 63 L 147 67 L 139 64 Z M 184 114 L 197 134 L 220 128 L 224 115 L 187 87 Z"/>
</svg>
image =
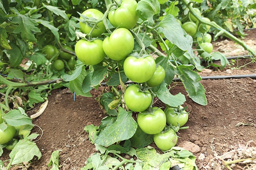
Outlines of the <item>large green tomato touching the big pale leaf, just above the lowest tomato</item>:
<svg viewBox="0 0 256 170">
<path fill-rule="evenodd" d="M 166 116 L 162 109 L 153 107 L 153 113 L 140 112 L 137 115 L 137 123 L 141 130 L 147 134 L 160 133 L 166 125 Z"/>
</svg>

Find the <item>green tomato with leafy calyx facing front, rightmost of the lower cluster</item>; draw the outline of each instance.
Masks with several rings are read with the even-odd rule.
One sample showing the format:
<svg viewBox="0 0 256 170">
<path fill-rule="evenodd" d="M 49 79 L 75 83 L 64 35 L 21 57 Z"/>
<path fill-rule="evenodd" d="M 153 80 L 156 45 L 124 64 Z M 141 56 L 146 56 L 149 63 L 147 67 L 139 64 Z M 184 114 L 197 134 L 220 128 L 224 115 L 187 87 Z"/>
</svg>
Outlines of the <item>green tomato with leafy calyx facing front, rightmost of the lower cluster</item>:
<svg viewBox="0 0 256 170">
<path fill-rule="evenodd" d="M 180 109 L 184 109 L 184 107 L 179 106 Z M 187 123 L 188 120 L 188 113 L 183 110 L 181 111 L 180 109 L 174 108 L 174 107 L 166 107 L 164 110 L 166 114 L 166 123 L 168 125 L 172 126 L 183 126 L 185 123 Z"/>
</svg>

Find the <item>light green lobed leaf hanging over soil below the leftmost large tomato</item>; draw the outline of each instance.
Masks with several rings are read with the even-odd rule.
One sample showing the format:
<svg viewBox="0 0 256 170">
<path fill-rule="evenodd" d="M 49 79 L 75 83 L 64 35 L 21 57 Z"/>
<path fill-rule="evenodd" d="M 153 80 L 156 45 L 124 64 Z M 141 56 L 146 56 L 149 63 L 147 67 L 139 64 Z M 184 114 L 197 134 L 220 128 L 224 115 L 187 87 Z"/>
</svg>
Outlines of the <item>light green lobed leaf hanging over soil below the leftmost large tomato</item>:
<svg viewBox="0 0 256 170">
<path fill-rule="evenodd" d="M 86 77 L 88 77 L 89 74 L 90 73 L 87 74 L 85 69 L 82 69 L 81 74 L 78 77 L 76 77 L 76 79 L 69 82 L 70 91 L 75 92 L 76 95 L 82 95 L 82 96 L 85 96 L 85 97 L 92 97 L 92 95 L 90 94 L 90 90 L 92 89 L 92 87 L 89 91 L 86 91 L 86 92 L 84 92 L 83 89 L 82 89 L 83 81 Z"/>
</svg>

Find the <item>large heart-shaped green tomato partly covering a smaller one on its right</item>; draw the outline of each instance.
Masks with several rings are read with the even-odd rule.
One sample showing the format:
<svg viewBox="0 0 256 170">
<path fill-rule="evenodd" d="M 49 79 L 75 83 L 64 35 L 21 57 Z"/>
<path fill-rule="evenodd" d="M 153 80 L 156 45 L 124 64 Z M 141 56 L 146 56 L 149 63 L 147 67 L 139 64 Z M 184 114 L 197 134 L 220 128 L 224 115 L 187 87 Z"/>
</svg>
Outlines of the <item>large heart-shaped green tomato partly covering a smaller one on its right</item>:
<svg viewBox="0 0 256 170">
<path fill-rule="evenodd" d="M 123 70 L 131 81 L 143 83 L 154 75 L 156 63 L 151 56 L 145 58 L 128 56 L 123 63 Z"/>
</svg>

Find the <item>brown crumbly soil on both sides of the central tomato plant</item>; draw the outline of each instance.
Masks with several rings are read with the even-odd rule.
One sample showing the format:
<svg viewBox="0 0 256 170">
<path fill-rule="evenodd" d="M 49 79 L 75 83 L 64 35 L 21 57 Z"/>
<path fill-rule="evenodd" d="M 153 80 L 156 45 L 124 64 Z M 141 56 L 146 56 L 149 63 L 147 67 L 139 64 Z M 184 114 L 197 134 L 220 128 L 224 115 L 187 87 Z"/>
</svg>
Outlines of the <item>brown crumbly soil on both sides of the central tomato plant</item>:
<svg viewBox="0 0 256 170">
<path fill-rule="evenodd" d="M 256 30 L 246 32 L 244 42 L 256 49 Z M 215 51 L 228 56 L 247 55 L 242 47 L 230 40 L 214 42 Z M 223 70 L 208 68 L 199 73 L 202 76 L 214 75 L 244 75 L 255 74 L 256 63 L 249 63 L 251 59 L 230 61 Z M 235 64 L 234 64 L 235 63 Z M 249 63 L 249 64 L 248 64 Z M 236 69 L 238 66 L 246 66 Z M 239 156 L 235 151 L 256 147 L 256 80 L 216 79 L 202 80 L 208 105 L 201 106 L 193 102 L 187 95 L 180 82 L 174 82 L 171 89 L 173 95 L 183 93 L 186 96 L 184 106 L 190 112 L 186 130 L 180 130 L 177 145 L 183 146 L 184 141 L 192 142 L 199 147 L 194 151 L 199 170 L 224 169 L 221 159 L 225 153 L 231 153 L 230 159 Z M 42 134 L 36 141 L 42 152 L 42 157 L 36 159 L 28 170 L 48 170 L 48 163 L 53 151 L 59 149 L 59 163 L 61 170 L 79 170 L 85 165 L 87 158 L 95 153 L 95 146 L 90 143 L 88 133 L 84 127 L 90 124 L 100 125 L 106 116 L 95 98 L 102 92 L 102 87 L 92 90 L 92 98 L 76 96 L 68 89 L 52 91 L 48 97 L 47 108 L 38 118 L 33 120 L 35 132 Z M 163 106 L 157 101 L 155 105 Z M 36 106 L 29 115 L 35 114 L 40 105 Z M 38 127 L 40 128 L 38 128 Z M 153 147 L 154 144 L 152 144 Z M 4 150 L 2 160 L 7 159 L 8 151 Z M 227 160 L 228 158 L 226 158 Z M 252 165 L 255 165 L 255 163 Z M 242 164 L 233 165 L 233 169 L 243 167 Z M 16 167 L 13 169 L 21 169 Z"/>
</svg>

